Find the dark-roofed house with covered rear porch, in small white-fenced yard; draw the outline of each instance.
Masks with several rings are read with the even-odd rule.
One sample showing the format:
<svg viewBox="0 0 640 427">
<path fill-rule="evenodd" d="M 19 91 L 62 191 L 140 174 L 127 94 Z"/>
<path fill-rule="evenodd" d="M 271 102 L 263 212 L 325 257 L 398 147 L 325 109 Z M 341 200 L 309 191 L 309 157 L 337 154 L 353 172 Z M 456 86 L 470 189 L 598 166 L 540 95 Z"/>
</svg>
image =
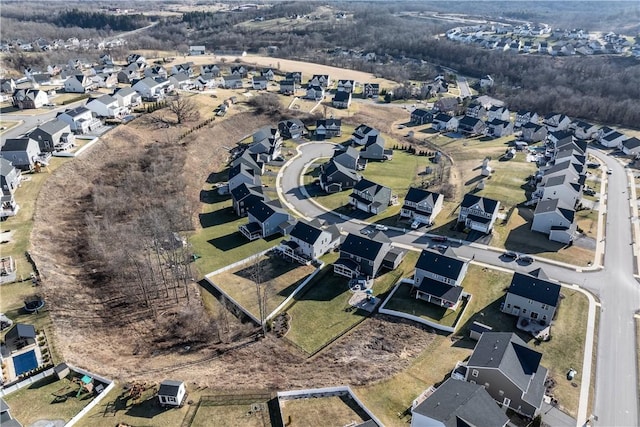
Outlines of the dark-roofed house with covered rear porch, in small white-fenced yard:
<svg viewBox="0 0 640 427">
<path fill-rule="evenodd" d="M 423 250 L 413 276 L 416 299 L 456 310 L 462 298 L 462 281 L 468 268 L 468 261 Z"/>
</svg>

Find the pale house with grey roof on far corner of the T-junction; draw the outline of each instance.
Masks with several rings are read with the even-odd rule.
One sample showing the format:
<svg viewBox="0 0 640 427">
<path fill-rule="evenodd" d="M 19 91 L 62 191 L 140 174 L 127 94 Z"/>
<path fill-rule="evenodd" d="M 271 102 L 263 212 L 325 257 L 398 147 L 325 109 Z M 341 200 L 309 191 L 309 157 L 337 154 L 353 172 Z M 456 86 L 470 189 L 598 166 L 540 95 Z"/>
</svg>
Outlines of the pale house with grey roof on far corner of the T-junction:
<svg viewBox="0 0 640 427">
<path fill-rule="evenodd" d="M 569 243 L 576 233 L 576 212 L 561 199 L 541 200 L 533 214 L 532 231 L 549 235 L 549 240 Z"/>
</svg>

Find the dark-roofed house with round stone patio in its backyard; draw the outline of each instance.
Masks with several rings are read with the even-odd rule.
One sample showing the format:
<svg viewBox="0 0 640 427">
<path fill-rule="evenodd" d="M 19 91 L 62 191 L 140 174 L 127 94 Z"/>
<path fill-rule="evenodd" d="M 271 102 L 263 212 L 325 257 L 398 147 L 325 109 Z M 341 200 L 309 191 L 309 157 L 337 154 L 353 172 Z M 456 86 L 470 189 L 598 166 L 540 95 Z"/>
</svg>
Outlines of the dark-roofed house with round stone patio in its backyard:
<svg viewBox="0 0 640 427">
<path fill-rule="evenodd" d="M 340 258 L 333 263 L 333 272 L 349 279 L 373 279 L 382 267 L 395 269 L 403 257 L 404 252 L 393 249 L 384 233 L 368 237 L 349 233 L 340 245 Z"/>
</svg>

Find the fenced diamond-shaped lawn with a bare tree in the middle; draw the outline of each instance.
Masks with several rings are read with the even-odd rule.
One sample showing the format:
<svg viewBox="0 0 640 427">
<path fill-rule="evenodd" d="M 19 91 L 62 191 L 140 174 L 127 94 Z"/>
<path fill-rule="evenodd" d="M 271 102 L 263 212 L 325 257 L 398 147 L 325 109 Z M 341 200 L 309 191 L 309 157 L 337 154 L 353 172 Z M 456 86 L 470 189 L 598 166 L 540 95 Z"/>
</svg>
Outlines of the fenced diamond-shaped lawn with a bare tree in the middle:
<svg viewBox="0 0 640 427">
<path fill-rule="evenodd" d="M 265 292 L 266 314 L 275 310 L 315 270 L 312 266 L 289 262 L 278 256 L 260 258 L 233 270 L 210 277 L 245 310 L 260 318 L 255 282 L 260 277 Z"/>
</svg>

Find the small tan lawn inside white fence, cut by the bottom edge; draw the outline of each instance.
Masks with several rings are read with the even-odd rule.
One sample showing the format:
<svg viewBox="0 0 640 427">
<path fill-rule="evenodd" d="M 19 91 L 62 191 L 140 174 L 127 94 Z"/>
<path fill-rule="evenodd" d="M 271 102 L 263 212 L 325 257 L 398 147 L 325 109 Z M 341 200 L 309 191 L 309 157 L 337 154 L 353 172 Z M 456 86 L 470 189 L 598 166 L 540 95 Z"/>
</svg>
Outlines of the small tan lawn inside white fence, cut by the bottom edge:
<svg viewBox="0 0 640 427">
<path fill-rule="evenodd" d="M 365 422 L 368 417 L 363 417 L 362 412 L 364 411 L 360 409 L 356 412 L 354 407 L 358 408 L 350 396 L 280 401 L 282 419 L 285 421 L 285 425 L 290 427 L 320 425 L 342 427 L 351 425 L 350 423 L 361 424 Z"/>
</svg>

